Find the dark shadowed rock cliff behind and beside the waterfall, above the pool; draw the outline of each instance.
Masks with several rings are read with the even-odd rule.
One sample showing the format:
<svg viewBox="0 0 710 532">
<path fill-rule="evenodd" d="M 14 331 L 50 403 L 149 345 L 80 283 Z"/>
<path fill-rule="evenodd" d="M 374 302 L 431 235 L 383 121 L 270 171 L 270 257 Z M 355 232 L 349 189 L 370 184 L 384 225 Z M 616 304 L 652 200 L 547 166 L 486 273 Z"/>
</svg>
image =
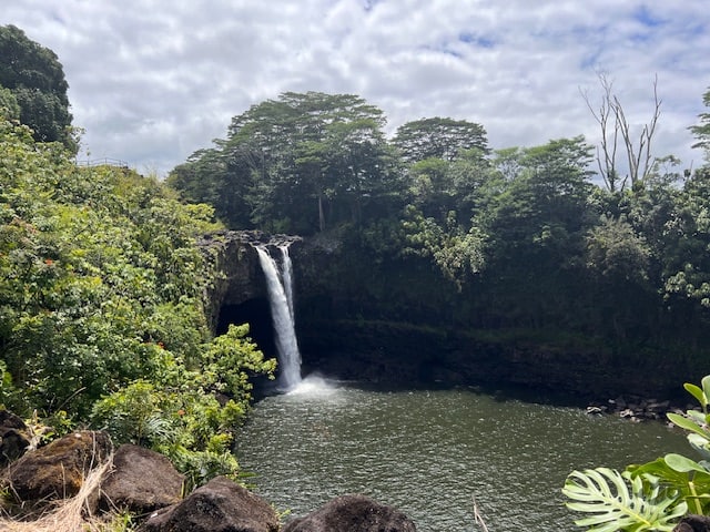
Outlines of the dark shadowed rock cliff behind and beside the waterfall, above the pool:
<svg viewBox="0 0 710 532">
<path fill-rule="evenodd" d="M 582 398 L 621 393 L 668 397 L 693 374 L 565 331 L 476 328 L 468 301 L 437 280 L 424 260 L 377 263 L 333 237 L 271 237 L 225 232 L 205 238 L 219 278 L 210 295 L 213 326 L 248 323 L 275 357 L 264 275 L 254 245 L 290 242 L 296 332 L 304 374 L 390 386 L 523 386 Z"/>
</svg>

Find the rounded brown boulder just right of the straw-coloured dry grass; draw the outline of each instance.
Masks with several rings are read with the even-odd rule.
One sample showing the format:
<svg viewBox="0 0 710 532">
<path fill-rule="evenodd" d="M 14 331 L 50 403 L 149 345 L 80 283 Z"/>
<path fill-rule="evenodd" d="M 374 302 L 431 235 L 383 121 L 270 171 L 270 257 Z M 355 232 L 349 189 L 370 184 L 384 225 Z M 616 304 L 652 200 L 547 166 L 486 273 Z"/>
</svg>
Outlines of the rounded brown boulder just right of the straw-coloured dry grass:
<svg viewBox="0 0 710 532">
<path fill-rule="evenodd" d="M 101 485 L 101 507 L 146 514 L 176 504 L 185 478 L 162 454 L 139 446 L 121 446 L 113 470 Z"/>
</svg>

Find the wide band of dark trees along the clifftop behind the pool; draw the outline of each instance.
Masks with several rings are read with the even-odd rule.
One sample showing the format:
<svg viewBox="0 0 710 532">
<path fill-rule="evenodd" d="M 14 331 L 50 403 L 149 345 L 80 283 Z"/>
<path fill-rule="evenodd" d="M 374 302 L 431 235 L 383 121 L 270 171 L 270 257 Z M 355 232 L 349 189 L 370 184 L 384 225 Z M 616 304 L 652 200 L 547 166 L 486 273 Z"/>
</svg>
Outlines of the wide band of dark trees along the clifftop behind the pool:
<svg viewBox="0 0 710 532">
<path fill-rule="evenodd" d="M 628 124 L 601 81 L 599 151 L 582 136 L 491 150 L 483 125 L 448 117 L 387 139 L 383 111 L 357 95 L 285 93 L 235 116 L 168 183 L 230 227 L 344 243 L 334 283 L 359 288 L 341 317 L 707 359 L 710 170 L 652 157 L 658 99 L 638 140 L 619 133 Z M 700 147 L 709 125 L 692 126 Z M 403 282 L 413 265 L 428 273 Z"/>
</svg>

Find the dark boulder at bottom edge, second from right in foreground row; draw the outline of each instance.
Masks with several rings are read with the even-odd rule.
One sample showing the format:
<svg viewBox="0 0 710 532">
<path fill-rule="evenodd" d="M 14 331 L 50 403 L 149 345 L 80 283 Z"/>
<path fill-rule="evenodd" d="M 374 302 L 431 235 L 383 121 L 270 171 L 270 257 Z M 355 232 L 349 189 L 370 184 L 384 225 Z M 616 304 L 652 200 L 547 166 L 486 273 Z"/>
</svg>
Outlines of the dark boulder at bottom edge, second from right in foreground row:
<svg viewBox="0 0 710 532">
<path fill-rule="evenodd" d="M 179 504 L 159 510 L 141 532 L 277 532 L 274 509 L 236 482 L 216 477 Z"/>
</svg>

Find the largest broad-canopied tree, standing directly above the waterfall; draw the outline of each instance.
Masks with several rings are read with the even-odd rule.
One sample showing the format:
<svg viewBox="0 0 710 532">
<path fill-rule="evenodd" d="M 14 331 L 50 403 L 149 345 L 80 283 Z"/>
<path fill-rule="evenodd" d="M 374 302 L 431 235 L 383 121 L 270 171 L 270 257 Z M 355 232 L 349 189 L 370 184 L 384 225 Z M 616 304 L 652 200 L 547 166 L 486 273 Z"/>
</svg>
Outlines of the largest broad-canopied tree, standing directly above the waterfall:
<svg viewBox="0 0 710 532">
<path fill-rule="evenodd" d="M 206 198 L 200 192 L 206 186 L 230 221 L 240 202 L 224 197 L 237 191 L 251 223 L 264 231 L 308 234 L 357 224 L 365 212 L 387 208 L 395 186 L 384 124 L 383 112 L 359 96 L 287 92 L 235 116 L 226 140 L 169 181 L 190 198 Z"/>
</svg>

